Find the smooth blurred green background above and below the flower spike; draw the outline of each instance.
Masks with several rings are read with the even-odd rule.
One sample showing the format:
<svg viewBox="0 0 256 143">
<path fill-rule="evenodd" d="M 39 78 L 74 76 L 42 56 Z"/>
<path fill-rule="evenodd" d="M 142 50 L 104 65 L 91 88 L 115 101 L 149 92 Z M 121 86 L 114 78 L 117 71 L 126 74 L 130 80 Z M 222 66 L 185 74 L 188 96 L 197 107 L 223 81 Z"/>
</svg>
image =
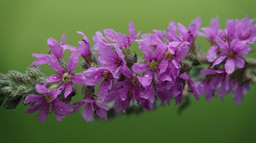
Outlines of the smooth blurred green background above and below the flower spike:
<svg viewBox="0 0 256 143">
<path fill-rule="evenodd" d="M 164 30 L 170 20 L 183 23 L 200 15 L 202 26 L 218 15 L 224 28 L 226 18 L 255 17 L 256 1 L 1 1 L 0 4 L 0 72 L 24 72 L 34 58 L 31 53 L 47 53 L 47 38 L 77 46 L 82 31 L 92 42 L 96 31 L 113 28 L 127 34 L 133 21 L 143 34 Z M 204 51 L 209 44 L 197 38 Z M 135 49 L 133 47 L 133 49 Z M 251 54 L 256 57 L 256 54 Z M 66 57 L 67 58 L 67 57 Z M 52 74 L 48 66 L 41 66 Z M 140 115 L 122 116 L 108 122 L 86 123 L 79 111 L 57 122 L 50 115 L 45 123 L 36 120 L 36 113 L 27 115 L 28 106 L 15 111 L 0 108 L 0 142 L 253 142 L 256 140 L 256 85 L 240 106 L 231 95 L 222 102 L 193 98 L 181 116 L 174 102 Z M 79 99 L 80 96 L 77 96 Z"/>
</svg>

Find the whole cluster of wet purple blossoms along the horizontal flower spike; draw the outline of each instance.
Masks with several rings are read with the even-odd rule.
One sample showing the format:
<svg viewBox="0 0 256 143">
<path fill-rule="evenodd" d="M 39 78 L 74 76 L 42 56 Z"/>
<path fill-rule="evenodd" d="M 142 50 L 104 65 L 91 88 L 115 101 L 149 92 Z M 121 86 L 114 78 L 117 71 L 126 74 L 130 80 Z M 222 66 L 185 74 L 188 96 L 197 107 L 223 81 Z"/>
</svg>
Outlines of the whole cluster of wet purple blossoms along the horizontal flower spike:
<svg viewBox="0 0 256 143">
<path fill-rule="evenodd" d="M 110 107 L 116 112 L 125 112 L 132 105 L 143 110 L 153 109 L 160 99 L 170 104 L 175 99 L 181 104 L 184 97 L 193 95 L 196 100 L 205 94 L 210 100 L 215 94 L 233 92 L 236 104 L 239 104 L 248 90 L 250 80 L 246 76 L 245 60 L 242 56 L 250 52 L 248 44 L 255 40 L 256 25 L 248 16 L 241 20 L 227 20 L 226 28 L 220 29 L 219 19 L 211 20 L 210 27 L 201 28 L 201 18 L 196 17 L 186 28 L 171 21 L 165 31 L 154 30 L 153 34 L 136 33 L 134 24 L 129 23 L 129 35 L 117 33 L 112 29 L 96 32 L 93 37 L 93 52 L 89 39 L 82 32 L 78 48 L 67 45 L 65 35 L 60 43 L 49 38 L 49 54 L 32 54 L 37 60 L 32 65 L 48 64 L 56 71 L 44 83 L 36 84 L 35 93 L 24 100 L 30 104 L 27 113 L 40 110 L 37 119 L 44 122 L 50 113 L 61 121 L 82 106 L 82 116 L 89 122 L 94 113 L 107 120 Z M 201 65 L 195 40 L 197 36 L 207 38 L 211 47 L 207 52 L 208 69 L 202 69 L 201 75 L 193 75 L 193 69 Z M 138 58 L 132 44 L 137 42 L 144 57 Z M 68 63 L 63 60 L 65 50 L 72 53 Z M 82 73 L 76 73 L 82 60 Z M 199 64 L 195 64 L 195 63 Z M 203 67 L 203 66 L 201 66 Z M 237 69 L 237 68 L 238 69 Z M 243 70 L 241 70 L 243 69 Z M 195 81 L 194 81 L 195 80 Z M 83 85 L 81 101 L 72 102 L 76 94 L 76 85 Z M 97 94 L 95 86 L 99 84 Z"/>
</svg>

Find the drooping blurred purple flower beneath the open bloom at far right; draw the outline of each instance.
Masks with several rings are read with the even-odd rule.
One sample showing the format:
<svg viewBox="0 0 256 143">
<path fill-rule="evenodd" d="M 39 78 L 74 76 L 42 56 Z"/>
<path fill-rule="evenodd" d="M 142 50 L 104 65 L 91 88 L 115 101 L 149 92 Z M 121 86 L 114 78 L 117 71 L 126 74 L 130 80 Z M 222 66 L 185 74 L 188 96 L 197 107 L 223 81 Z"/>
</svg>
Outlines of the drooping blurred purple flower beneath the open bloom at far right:
<svg viewBox="0 0 256 143">
<path fill-rule="evenodd" d="M 204 69 L 200 71 L 201 75 L 206 75 L 206 78 L 198 84 L 198 91 L 200 94 L 205 94 L 205 100 L 210 101 L 214 94 L 223 100 L 223 95 L 230 91 L 230 82 L 224 70 Z M 218 90 L 217 88 L 220 88 Z"/>
</svg>

